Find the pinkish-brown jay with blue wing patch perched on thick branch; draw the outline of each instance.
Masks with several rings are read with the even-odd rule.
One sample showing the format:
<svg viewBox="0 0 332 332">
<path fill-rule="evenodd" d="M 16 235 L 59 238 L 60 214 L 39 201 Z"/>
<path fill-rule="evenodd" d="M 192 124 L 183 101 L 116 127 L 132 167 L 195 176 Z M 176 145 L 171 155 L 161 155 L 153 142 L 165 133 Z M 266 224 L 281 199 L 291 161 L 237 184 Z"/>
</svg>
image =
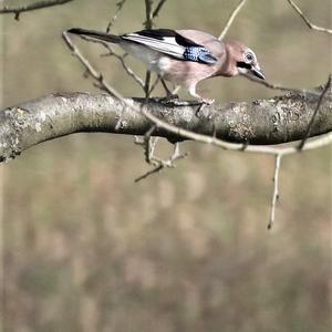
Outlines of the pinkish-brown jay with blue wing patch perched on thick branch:
<svg viewBox="0 0 332 332">
<path fill-rule="evenodd" d="M 196 93 L 197 83 L 205 79 L 248 73 L 264 80 L 251 49 L 198 30 L 155 29 L 115 35 L 74 28 L 68 32 L 118 44 L 159 75 L 167 94 L 170 92 L 163 80 L 187 89 L 191 96 L 207 104 L 214 101 Z"/>
</svg>

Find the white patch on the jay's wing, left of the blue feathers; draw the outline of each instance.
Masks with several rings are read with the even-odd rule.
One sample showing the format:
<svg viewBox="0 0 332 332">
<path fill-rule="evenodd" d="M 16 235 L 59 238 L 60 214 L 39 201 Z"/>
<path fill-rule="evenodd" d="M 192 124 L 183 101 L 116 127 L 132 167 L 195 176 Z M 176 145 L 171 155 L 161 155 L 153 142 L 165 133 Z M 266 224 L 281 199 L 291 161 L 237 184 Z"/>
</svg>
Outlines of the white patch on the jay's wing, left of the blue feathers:
<svg viewBox="0 0 332 332">
<path fill-rule="evenodd" d="M 183 60 L 185 59 L 184 52 L 186 48 L 179 45 L 176 42 L 174 37 L 164 37 L 160 40 L 160 39 L 155 39 L 146 35 L 141 35 L 137 33 L 128 33 L 122 35 L 122 39 L 143 44 L 152 50 L 172 55 L 177 59 L 183 59 Z"/>
</svg>

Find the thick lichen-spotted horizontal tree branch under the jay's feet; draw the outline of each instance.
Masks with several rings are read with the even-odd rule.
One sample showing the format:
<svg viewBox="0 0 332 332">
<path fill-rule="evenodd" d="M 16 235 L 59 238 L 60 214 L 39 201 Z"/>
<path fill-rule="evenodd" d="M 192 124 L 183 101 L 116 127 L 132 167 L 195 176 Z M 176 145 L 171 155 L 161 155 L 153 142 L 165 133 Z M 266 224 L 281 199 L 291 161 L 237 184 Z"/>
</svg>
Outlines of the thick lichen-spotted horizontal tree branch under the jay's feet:
<svg viewBox="0 0 332 332">
<path fill-rule="evenodd" d="M 322 89 L 322 87 L 321 87 Z M 230 142 L 269 145 L 301 139 L 319 94 L 289 93 L 270 100 L 207 106 L 163 104 L 151 100 L 148 112 L 164 122 Z M 128 107 L 107 94 L 52 94 L 0 112 L 0 159 L 7 160 L 41 142 L 79 132 L 144 135 L 152 123 L 139 110 L 145 100 L 126 100 Z M 332 131 L 331 85 L 310 136 Z M 180 137 L 158 128 L 155 136 Z"/>
</svg>

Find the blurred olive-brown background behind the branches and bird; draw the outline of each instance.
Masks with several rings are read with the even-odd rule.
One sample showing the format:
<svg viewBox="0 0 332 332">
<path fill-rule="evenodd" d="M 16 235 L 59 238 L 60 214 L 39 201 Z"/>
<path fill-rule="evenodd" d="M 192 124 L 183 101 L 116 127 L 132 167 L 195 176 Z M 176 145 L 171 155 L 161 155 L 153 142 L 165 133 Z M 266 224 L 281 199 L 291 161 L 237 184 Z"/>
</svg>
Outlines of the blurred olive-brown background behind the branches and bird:
<svg viewBox="0 0 332 332">
<path fill-rule="evenodd" d="M 0 15 L 1 108 L 98 92 L 61 33 L 105 30 L 116 2 Z M 155 23 L 219 35 L 237 3 L 168 0 Z M 331 1 L 297 3 L 331 29 Z M 112 31 L 144 20 L 144 1 L 127 0 Z M 314 87 L 331 71 L 331 37 L 309 30 L 287 1 L 247 1 L 227 38 L 250 45 L 271 82 Z M 118 91 L 142 95 L 101 45 L 75 42 Z M 240 77 L 198 91 L 218 102 L 278 93 Z M 158 153 L 170 149 L 162 142 Z M 188 159 L 138 184 L 148 166 L 131 136 L 75 134 L 0 166 L 3 331 L 331 331 L 331 147 L 283 159 L 272 231 L 273 158 L 190 142 L 181 149 Z"/>
</svg>

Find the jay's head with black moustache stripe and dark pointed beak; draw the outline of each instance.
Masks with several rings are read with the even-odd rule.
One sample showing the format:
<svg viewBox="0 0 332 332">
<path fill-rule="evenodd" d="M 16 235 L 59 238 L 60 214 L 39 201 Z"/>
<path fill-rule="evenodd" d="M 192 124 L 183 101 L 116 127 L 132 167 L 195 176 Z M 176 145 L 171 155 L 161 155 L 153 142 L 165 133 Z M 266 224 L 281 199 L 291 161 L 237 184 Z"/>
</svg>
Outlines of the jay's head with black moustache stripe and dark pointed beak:
<svg viewBox="0 0 332 332">
<path fill-rule="evenodd" d="M 229 61 L 229 75 L 249 74 L 264 80 L 255 52 L 237 41 L 226 42 Z"/>
</svg>

